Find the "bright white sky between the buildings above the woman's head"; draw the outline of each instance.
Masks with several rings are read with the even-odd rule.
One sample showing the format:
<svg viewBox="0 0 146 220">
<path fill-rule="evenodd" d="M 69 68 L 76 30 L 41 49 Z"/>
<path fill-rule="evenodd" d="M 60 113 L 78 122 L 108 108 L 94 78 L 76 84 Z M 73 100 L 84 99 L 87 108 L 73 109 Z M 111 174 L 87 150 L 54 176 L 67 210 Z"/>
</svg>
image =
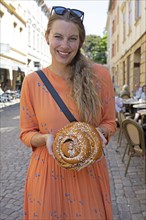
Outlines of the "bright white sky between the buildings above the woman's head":
<svg viewBox="0 0 146 220">
<path fill-rule="evenodd" d="M 84 11 L 86 35 L 103 36 L 106 27 L 109 0 L 46 0 L 47 6 L 64 6 Z"/>
</svg>

